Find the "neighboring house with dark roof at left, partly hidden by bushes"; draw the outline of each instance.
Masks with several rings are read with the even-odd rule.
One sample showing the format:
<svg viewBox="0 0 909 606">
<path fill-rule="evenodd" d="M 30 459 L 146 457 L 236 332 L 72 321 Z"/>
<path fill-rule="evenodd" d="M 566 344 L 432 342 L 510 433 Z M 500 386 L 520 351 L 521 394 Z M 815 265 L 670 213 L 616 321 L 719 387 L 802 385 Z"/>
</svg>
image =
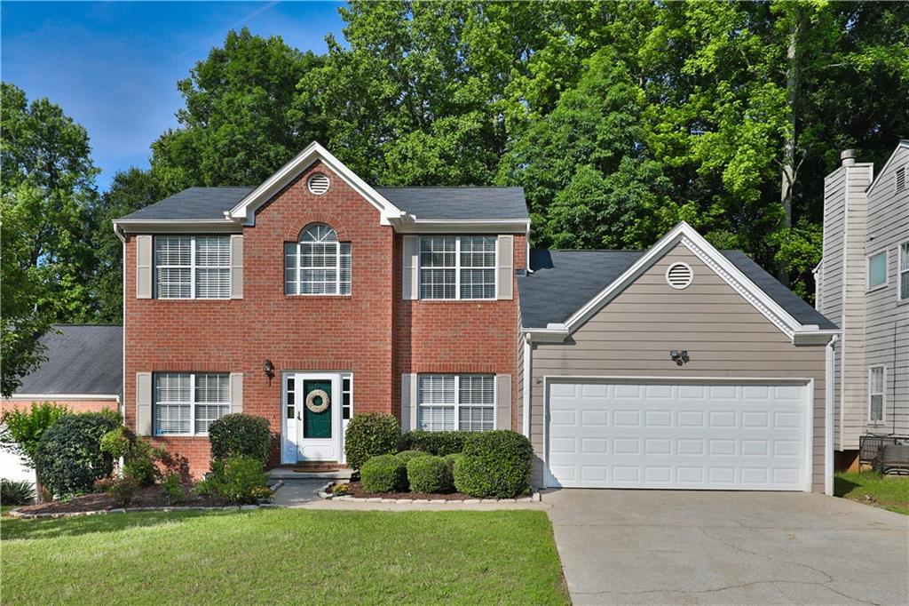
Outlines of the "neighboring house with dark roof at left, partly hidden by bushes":
<svg viewBox="0 0 909 606">
<path fill-rule="evenodd" d="M 123 328 L 119 326 L 55 325 L 41 343 L 46 359 L 22 379 L 3 411 L 54 402 L 73 412 L 120 408 L 123 389 Z M 0 477 L 35 481 L 35 471 L 13 454 L 0 451 Z"/>
</svg>

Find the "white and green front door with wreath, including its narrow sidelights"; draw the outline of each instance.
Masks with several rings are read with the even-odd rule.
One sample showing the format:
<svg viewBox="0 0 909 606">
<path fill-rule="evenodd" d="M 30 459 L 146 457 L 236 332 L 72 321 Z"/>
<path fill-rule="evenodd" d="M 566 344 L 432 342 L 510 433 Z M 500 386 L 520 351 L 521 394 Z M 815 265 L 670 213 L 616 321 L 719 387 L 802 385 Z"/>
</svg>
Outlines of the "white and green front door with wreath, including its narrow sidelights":
<svg viewBox="0 0 909 606">
<path fill-rule="evenodd" d="M 340 373 L 284 373 L 283 463 L 342 461 Z"/>
</svg>

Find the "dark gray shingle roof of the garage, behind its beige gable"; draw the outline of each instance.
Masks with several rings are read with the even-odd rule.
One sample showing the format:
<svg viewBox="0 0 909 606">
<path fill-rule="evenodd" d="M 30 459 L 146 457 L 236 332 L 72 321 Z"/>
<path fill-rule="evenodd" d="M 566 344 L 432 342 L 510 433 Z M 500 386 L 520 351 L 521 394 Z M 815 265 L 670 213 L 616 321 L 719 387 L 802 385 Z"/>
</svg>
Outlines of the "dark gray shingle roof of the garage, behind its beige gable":
<svg viewBox="0 0 909 606">
<path fill-rule="evenodd" d="M 721 252 L 802 324 L 836 328 L 744 252 Z M 530 267 L 534 274 L 518 277 L 522 324 L 527 328 L 545 328 L 550 322 L 564 322 L 642 255 L 644 251 L 640 250 L 532 250 Z"/>
</svg>

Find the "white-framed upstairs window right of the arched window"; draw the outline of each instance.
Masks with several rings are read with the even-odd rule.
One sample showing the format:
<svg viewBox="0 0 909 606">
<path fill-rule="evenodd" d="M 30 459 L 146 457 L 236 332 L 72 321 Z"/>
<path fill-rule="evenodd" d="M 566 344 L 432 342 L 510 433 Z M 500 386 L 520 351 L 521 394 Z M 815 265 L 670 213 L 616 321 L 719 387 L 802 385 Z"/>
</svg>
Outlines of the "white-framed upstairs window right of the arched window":
<svg viewBox="0 0 909 606">
<path fill-rule="evenodd" d="M 420 238 L 420 298 L 495 298 L 494 236 Z"/>
</svg>

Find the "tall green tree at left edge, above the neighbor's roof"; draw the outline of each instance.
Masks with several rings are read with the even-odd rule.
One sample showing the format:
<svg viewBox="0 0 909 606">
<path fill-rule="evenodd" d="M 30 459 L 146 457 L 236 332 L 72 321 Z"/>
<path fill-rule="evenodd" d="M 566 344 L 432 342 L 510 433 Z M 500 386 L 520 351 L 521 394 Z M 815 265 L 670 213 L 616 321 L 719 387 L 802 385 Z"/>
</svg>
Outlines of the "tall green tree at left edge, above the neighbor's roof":
<svg viewBox="0 0 909 606">
<path fill-rule="evenodd" d="M 25 93 L 8 83 L 3 83 L 2 95 L 0 196 L 16 224 L 16 234 L 7 231 L 10 240 L 3 242 L 4 250 L 8 244 L 12 252 L 4 270 L 13 272 L 15 259 L 32 290 L 9 294 L 35 298 L 39 314 L 55 321 L 91 321 L 89 232 L 98 170 L 90 158 L 88 134 L 46 98 L 28 103 Z M 30 337 L 18 338 L 25 342 Z"/>
</svg>

